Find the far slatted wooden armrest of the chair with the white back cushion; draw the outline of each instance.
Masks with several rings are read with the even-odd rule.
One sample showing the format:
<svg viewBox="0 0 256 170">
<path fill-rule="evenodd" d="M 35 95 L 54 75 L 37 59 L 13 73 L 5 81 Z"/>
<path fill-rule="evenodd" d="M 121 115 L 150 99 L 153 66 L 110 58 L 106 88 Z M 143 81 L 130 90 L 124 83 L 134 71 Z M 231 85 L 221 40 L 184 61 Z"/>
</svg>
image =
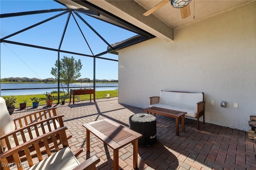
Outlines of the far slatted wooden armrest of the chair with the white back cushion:
<svg viewBox="0 0 256 170">
<path fill-rule="evenodd" d="M 54 116 L 57 116 L 56 107 L 39 110 L 34 113 L 30 113 L 28 115 L 16 118 L 13 121 L 15 123 L 16 128 L 21 128 L 26 125 L 29 125 L 30 123 L 34 123 L 39 120 L 47 119 L 49 117 L 54 117 Z"/>
</svg>

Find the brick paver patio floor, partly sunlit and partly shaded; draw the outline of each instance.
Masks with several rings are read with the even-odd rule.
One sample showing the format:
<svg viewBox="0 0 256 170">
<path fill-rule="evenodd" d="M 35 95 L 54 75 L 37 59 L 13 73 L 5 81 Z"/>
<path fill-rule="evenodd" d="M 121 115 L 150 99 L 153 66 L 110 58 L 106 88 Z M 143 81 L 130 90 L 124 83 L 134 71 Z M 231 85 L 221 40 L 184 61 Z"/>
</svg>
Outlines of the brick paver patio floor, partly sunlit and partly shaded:
<svg viewBox="0 0 256 170">
<path fill-rule="evenodd" d="M 86 153 L 86 133 L 82 125 L 108 118 L 129 127 L 131 115 L 145 113 L 142 108 L 119 104 L 117 97 L 98 99 L 95 103 L 65 103 L 56 107 L 58 114 L 64 115 L 67 134 L 72 134 L 69 140 L 71 149 L 84 149 L 78 160 L 83 162 L 96 154 L 100 158 L 97 164 L 100 170 L 113 168 L 113 151 L 91 134 L 91 151 Z M 16 110 L 12 117 L 30 112 L 33 109 Z M 176 136 L 174 118 L 156 115 L 156 119 L 157 142 L 152 146 L 138 147 L 138 169 L 256 169 L 256 143 L 248 138 L 247 132 L 210 123 L 200 123 L 200 130 L 197 130 L 195 120 L 185 119 L 185 132 L 182 132 L 180 126 L 180 136 Z M 133 169 L 132 153 L 132 144 L 119 150 L 119 169 Z"/>
</svg>

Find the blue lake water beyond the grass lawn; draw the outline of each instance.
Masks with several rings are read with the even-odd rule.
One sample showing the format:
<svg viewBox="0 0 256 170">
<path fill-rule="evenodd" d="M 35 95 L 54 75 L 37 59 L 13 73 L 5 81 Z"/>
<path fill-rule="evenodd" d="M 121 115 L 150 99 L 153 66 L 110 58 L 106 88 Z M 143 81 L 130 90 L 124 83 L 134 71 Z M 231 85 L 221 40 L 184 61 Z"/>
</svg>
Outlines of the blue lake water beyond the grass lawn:
<svg viewBox="0 0 256 170">
<path fill-rule="evenodd" d="M 60 91 L 65 90 L 64 84 L 60 84 Z M 99 87 L 108 86 L 108 87 Z M 111 86 L 111 87 L 110 87 Z M 114 86 L 114 87 L 113 87 Z M 93 83 L 71 83 L 70 89 L 93 88 Z M 29 88 L 50 88 L 50 89 L 29 89 Z M 1 89 L 23 89 L 23 90 L 1 90 L 1 96 L 9 95 L 37 95 L 58 90 L 58 83 L 1 83 Z M 27 89 L 27 90 L 26 90 Z M 118 83 L 96 83 L 95 91 L 107 91 L 118 89 Z M 66 91 L 66 90 L 65 90 Z"/>
</svg>

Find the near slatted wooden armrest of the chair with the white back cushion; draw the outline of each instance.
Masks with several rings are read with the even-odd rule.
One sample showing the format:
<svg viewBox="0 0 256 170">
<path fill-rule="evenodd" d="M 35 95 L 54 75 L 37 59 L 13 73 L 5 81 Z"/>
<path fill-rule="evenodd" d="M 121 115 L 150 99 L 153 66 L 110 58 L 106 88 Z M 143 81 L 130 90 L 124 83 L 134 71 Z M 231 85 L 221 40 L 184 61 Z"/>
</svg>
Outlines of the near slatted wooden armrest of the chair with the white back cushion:
<svg viewBox="0 0 256 170">
<path fill-rule="evenodd" d="M 44 119 L 42 121 L 37 121 L 35 123 L 31 123 L 25 127 L 22 127 L 22 128 L 19 128 L 19 129 L 16 129 L 10 133 L 7 133 L 7 134 L 4 134 L 3 136 L 0 137 L 0 140 L 5 140 L 6 142 L 6 145 L 7 145 L 7 148 L 8 150 L 10 150 L 12 147 L 10 145 L 10 141 L 8 140 L 8 137 L 9 136 L 13 136 L 14 137 L 14 141 L 16 143 L 16 146 L 19 145 L 18 143 L 18 139 L 17 139 L 17 134 L 21 134 L 22 135 L 22 140 L 23 142 L 26 142 L 26 138 L 25 138 L 25 133 L 24 132 L 28 132 L 29 136 L 30 136 L 30 140 L 33 138 L 33 135 L 32 135 L 32 128 L 34 128 L 35 132 L 36 132 L 36 136 L 40 136 L 43 134 L 46 133 L 46 129 L 45 127 L 48 128 L 49 131 L 53 131 L 55 129 L 58 129 L 57 125 L 56 125 L 56 121 L 58 121 L 60 127 L 64 127 L 64 124 L 63 124 L 63 120 L 62 120 L 62 117 L 64 117 L 64 115 L 58 115 L 58 116 L 55 116 L 55 117 L 50 117 L 48 119 Z M 52 129 L 50 127 L 50 121 L 52 121 L 53 125 L 54 125 L 54 129 Z M 40 128 L 42 128 L 42 130 L 40 130 L 41 132 L 39 133 L 39 130 L 38 130 L 38 125 L 40 125 Z M 1 146 L 1 149 L 2 149 L 2 146 Z"/>
</svg>

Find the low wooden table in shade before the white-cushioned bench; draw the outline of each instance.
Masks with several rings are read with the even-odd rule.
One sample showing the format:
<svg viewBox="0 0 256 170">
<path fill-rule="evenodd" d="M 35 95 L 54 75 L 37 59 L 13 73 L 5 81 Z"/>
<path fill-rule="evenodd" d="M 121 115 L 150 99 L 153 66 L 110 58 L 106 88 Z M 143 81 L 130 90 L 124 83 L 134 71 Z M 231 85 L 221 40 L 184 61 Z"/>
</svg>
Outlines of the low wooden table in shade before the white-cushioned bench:
<svg viewBox="0 0 256 170">
<path fill-rule="evenodd" d="M 154 113 L 154 116 L 157 114 L 174 117 L 176 119 L 176 136 L 179 136 L 179 118 L 182 117 L 182 131 L 185 132 L 185 114 L 186 112 L 175 111 L 171 109 L 164 109 L 161 107 L 148 107 L 145 109 L 146 113 Z"/>
</svg>

